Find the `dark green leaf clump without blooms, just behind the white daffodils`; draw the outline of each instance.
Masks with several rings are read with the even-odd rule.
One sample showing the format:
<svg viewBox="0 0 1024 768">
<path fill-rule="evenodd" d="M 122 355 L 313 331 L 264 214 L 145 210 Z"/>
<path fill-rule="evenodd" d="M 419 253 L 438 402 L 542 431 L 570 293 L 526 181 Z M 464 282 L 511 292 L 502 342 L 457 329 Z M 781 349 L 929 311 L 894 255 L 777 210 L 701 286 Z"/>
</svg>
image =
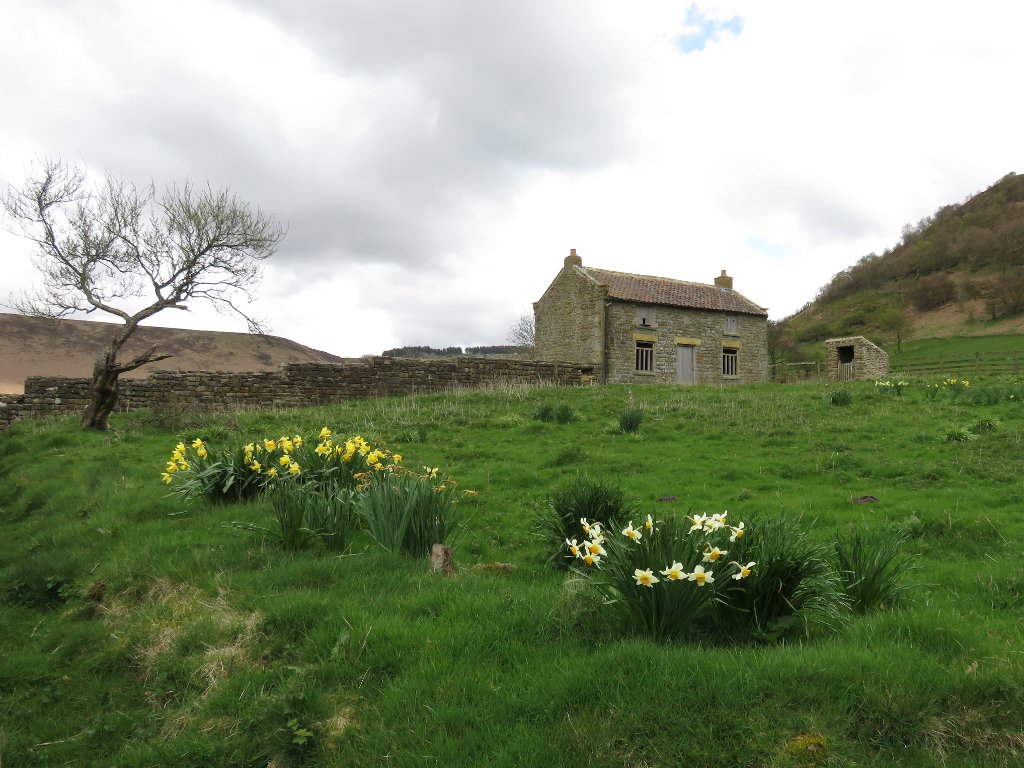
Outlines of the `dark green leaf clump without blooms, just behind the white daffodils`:
<svg viewBox="0 0 1024 768">
<path fill-rule="evenodd" d="M 535 516 L 534 526 L 547 551 L 548 563 L 568 567 L 566 541 L 580 536 L 580 521 L 607 523 L 634 514 L 622 488 L 603 480 L 578 476 L 570 484 L 555 490 Z"/>
</svg>

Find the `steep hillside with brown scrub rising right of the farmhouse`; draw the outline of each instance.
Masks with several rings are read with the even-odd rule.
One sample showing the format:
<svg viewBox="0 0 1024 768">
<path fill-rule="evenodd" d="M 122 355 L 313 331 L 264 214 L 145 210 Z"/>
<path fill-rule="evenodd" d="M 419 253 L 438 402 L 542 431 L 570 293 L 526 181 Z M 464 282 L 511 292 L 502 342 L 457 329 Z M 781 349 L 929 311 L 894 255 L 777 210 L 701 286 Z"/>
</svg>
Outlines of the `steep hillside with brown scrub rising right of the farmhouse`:
<svg viewBox="0 0 1024 768">
<path fill-rule="evenodd" d="M 877 342 L 1024 332 L 1024 176 L 903 228 L 900 242 L 836 274 L 774 324 L 776 358 L 813 359 L 824 339 Z"/>
</svg>

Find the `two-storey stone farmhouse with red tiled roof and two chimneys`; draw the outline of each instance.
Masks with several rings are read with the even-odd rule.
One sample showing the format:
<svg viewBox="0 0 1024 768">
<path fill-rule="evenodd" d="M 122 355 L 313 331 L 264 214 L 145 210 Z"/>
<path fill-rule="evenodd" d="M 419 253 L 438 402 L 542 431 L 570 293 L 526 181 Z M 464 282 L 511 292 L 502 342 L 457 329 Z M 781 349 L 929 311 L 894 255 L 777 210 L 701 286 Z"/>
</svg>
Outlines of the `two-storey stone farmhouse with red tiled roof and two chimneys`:
<svg viewBox="0 0 1024 768">
<path fill-rule="evenodd" d="M 594 367 L 602 383 L 768 378 L 768 310 L 714 285 L 584 266 L 573 248 L 534 304 L 537 356 Z"/>
</svg>

